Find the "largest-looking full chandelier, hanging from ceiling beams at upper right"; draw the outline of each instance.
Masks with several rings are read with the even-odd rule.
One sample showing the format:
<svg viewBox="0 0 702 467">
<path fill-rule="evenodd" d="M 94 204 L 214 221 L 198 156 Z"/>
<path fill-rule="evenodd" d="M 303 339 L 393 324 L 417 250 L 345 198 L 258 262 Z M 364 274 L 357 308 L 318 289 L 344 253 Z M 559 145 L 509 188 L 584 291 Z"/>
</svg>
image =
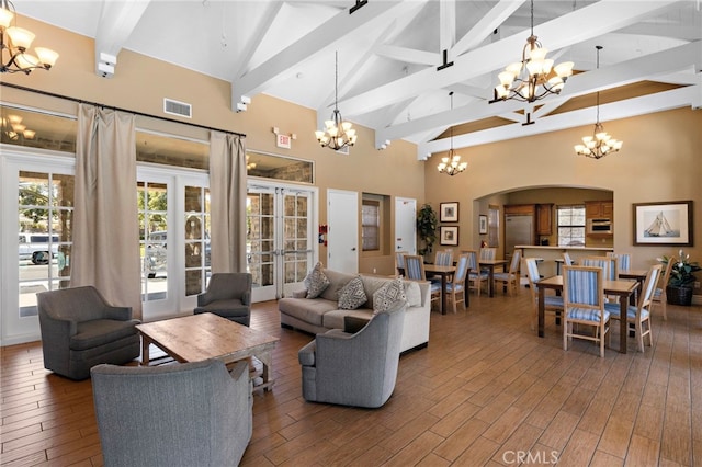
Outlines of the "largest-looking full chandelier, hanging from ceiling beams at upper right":
<svg viewBox="0 0 702 467">
<path fill-rule="evenodd" d="M 517 61 L 498 75 L 500 83 L 495 87 L 495 99 L 534 102 L 548 94 L 558 94 L 564 83 L 573 75 L 573 61 L 564 61 L 555 67 L 546 58 L 548 49 L 543 48 L 534 35 L 534 0 L 531 1 L 531 36 L 522 50 L 522 61 Z"/>
</svg>

